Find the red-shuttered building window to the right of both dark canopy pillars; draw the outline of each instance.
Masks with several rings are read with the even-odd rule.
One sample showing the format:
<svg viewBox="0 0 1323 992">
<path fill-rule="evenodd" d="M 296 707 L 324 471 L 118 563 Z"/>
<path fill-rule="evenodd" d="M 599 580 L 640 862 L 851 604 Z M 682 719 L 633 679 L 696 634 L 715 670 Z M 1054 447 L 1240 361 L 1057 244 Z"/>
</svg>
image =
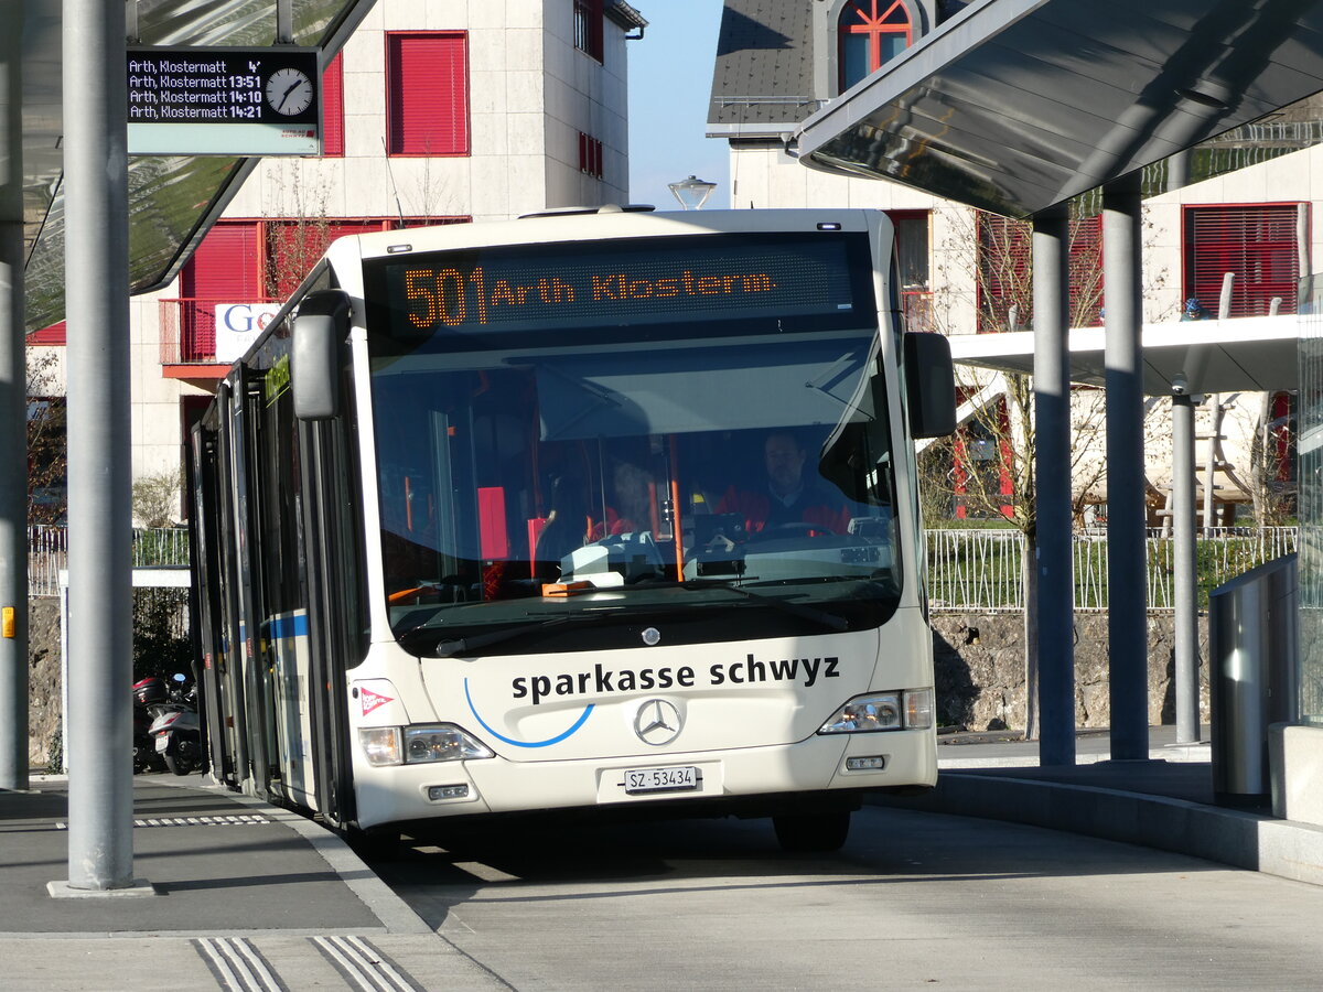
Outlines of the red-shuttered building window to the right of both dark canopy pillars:
<svg viewBox="0 0 1323 992">
<path fill-rule="evenodd" d="M 1297 224 L 1299 204 L 1187 206 L 1183 299 L 1197 299 L 1217 313 L 1226 272 L 1234 276 L 1228 316 L 1263 316 L 1273 299 L 1295 312 L 1301 275 Z"/>
</svg>

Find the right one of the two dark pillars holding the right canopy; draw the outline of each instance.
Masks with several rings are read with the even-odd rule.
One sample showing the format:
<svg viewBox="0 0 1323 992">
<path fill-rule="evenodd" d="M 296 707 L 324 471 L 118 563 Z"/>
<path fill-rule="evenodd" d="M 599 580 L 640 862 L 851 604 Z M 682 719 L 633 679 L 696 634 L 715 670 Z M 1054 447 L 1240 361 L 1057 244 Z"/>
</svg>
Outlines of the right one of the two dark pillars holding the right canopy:
<svg viewBox="0 0 1323 992">
<path fill-rule="evenodd" d="M 1113 761 L 1148 758 L 1148 616 L 1138 177 L 1103 186 L 1107 389 L 1107 638 Z"/>
</svg>

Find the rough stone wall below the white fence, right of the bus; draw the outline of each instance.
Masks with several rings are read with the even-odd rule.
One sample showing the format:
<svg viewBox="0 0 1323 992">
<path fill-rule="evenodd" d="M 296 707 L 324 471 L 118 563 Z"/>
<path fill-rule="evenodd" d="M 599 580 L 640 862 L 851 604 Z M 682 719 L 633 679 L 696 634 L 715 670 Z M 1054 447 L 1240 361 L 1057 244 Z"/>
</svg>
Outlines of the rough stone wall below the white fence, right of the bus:
<svg viewBox="0 0 1323 992">
<path fill-rule="evenodd" d="M 1176 722 L 1171 614 L 1148 614 L 1148 722 Z M 1076 615 L 1076 726 L 1109 726 L 1107 615 Z M 1024 615 L 934 614 L 937 712 L 970 730 L 1024 727 Z M 1208 616 L 1199 618 L 1199 713 L 1208 722 Z"/>
</svg>

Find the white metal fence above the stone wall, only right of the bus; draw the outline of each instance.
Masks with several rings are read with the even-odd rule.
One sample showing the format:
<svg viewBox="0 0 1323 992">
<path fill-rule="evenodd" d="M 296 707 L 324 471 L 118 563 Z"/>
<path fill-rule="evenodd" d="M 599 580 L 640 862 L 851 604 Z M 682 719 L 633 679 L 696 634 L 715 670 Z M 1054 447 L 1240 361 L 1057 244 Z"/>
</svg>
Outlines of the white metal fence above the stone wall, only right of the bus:
<svg viewBox="0 0 1323 992">
<path fill-rule="evenodd" d="M 1229 578 L 1297 550 L 1298 541 L 1294 526 L 1201 529 L 1195 542 L 1200 606 L 1207 606 L 1208 594 Z M 1146 545 L 1148 608 L 1174 610 L 1174 541 L 1162 530 L 1150 530 Z M 1023 610 L 1024 548 L 1019 530 L 929 530 L 933 608 Z M 1107 541 L 1102 534 L 1076 534 L 1074 608 L 1107 608 Z"/>
</svg>

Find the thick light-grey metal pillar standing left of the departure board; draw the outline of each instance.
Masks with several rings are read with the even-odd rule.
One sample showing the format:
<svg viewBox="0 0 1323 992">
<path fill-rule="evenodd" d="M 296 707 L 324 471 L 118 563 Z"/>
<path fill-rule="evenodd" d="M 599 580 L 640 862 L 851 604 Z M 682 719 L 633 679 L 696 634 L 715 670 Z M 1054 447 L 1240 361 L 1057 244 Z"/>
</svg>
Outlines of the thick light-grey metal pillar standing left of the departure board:
<svg viewBox="0 0 1323 992">
<path fill-rule="evenodd" d="M 124 5 L 64 0 L 69 362 L 69 881 L 134 881 Z"/>
</svg>

